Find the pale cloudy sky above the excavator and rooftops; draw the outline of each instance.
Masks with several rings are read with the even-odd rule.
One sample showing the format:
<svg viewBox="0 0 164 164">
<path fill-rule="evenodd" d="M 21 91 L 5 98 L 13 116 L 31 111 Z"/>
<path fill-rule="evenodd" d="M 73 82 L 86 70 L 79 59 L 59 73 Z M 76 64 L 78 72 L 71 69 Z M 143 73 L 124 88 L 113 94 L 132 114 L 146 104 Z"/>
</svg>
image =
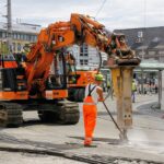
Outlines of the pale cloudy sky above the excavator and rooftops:
<svg viewBox="0 0 164 164">
<path fill-rule="evenodd" d="M 69 21 L 71 13 L 95 17 L 108 30 L 164 26 L 164 0 L 11 0 L 12 21 L 43 27 Z M 105 3 L 103 3 L 105 2 Z M 7 0 L 0 0 L 0 22 L 5 22 Z M 103 8 L 101 8 L 103 5 Z M 101 10 L 99 10 L 101 9 Z"/>
</svg>

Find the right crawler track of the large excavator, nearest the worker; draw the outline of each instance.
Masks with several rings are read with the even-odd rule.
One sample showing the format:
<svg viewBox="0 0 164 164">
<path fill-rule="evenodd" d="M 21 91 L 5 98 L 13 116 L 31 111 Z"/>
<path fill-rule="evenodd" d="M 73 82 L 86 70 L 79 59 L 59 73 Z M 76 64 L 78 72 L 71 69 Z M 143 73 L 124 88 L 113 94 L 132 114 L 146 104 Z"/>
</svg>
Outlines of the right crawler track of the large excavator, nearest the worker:
<svg viewBox="0 0 164 164">
<path fill-rule="evenodd" d="M 42 104 L 38 117 L 44 122 L 75 125 L 79 122 L 79 105 L 70 101 L 59 101 L 56 104 Z"/>
</svg>

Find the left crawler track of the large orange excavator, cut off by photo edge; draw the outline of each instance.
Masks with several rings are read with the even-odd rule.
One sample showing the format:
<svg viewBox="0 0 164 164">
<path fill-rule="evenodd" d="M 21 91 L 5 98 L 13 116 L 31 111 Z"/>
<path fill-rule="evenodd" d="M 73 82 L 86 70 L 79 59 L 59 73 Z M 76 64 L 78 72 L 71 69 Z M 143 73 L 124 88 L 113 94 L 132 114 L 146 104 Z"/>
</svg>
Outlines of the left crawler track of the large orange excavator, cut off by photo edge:
<svg viewBox="0 0 164 164">
<path fill-rule="evenodd" d="M 0 127 L 20 127 L 23 122 L 22 106 L 16 103 L 0 103 Z"/>
</svg>

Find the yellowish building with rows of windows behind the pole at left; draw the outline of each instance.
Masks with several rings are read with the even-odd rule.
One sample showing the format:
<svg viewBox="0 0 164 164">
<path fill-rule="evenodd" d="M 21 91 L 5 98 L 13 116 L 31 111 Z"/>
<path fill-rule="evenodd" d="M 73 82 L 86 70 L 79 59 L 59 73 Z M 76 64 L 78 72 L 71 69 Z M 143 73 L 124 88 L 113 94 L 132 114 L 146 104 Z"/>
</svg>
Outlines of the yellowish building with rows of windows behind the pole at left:
<svg viewBox="0 0 164 164">
<path fill-rule="evenodd" d="M 35 43 L 40 25 L 17 23 L 12 25 L 12 45 L 10 51 L 22 52 L 26 44 Z M 0 52 L 7 51 L 7 25 L 0 23 Z"/>
</svg>

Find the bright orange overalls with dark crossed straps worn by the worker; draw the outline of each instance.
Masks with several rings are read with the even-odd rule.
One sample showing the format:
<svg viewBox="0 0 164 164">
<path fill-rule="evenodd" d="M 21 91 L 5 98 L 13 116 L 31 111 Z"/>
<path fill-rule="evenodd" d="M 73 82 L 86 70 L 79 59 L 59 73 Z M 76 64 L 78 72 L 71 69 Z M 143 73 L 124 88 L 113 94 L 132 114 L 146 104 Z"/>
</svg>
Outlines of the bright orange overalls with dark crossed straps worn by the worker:
<svg viewBox="0 0 164 164">
<path fill-rule="evenodd" d="M 96 85 L 91 89 L 91 84 L 86 87 L 89 90 L 89 95 L 84 98 L 83 103 L 83 119 L 85 129 L 85 140 L 84 145 L 90 145 L 92 143 L 93 132 L 96 125 L 97 108 L 94 98 L 91 93 L 95 90 Z"/>
</svg>

